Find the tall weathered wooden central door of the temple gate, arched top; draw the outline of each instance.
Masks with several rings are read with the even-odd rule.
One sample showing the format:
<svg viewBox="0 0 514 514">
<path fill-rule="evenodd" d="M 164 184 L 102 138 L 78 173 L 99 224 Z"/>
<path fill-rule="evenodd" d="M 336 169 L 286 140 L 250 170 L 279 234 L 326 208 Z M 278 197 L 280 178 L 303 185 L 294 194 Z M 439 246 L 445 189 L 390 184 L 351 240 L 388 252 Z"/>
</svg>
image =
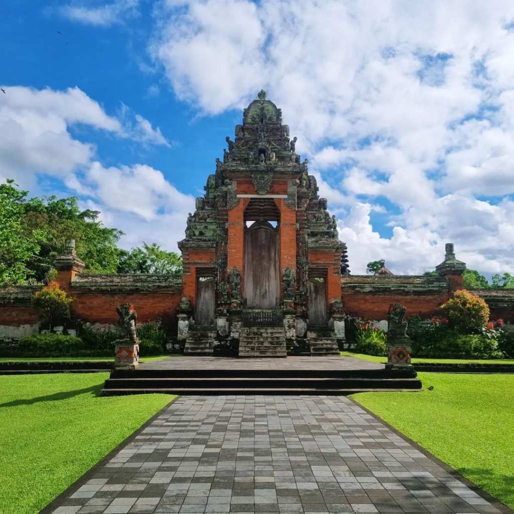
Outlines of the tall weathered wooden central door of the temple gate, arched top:
<svg viewBox="0 0 514 514">
<path fill-rule="evenodd" d="M 246 229 L 244 294 L 248 308 L 273 309 L 279 304 L 278 236 L 268 222 Z"/>
</svg>

